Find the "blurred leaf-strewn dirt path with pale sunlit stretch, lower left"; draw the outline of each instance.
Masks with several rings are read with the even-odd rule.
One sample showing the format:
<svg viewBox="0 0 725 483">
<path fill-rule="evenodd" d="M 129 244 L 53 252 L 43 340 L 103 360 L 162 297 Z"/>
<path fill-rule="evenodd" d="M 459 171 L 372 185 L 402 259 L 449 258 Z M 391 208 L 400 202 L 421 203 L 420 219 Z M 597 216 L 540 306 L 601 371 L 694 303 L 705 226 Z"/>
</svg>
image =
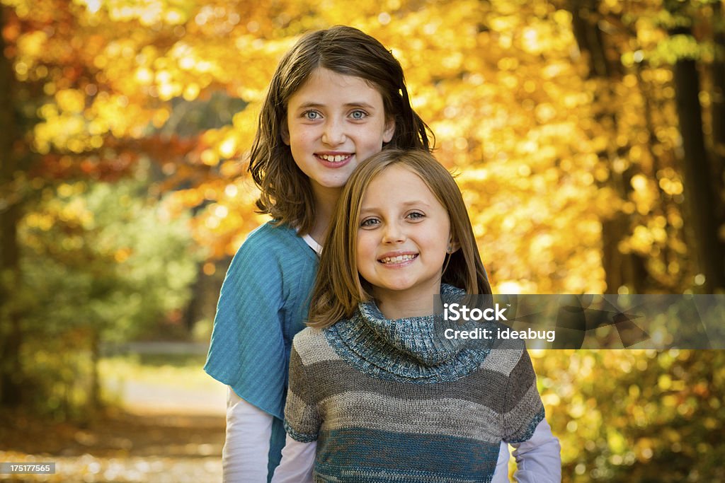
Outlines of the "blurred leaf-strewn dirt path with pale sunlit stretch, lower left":
<svg viewBox="0 0 725 483">
<path fill-rule="evenodd" d="M 221 481 L 223 385 L 127 382 L 123 409 L 84 427 L 0 414 L 0 462 L 55 462 L 54 475 L 0 482 Z"/>
</svg>

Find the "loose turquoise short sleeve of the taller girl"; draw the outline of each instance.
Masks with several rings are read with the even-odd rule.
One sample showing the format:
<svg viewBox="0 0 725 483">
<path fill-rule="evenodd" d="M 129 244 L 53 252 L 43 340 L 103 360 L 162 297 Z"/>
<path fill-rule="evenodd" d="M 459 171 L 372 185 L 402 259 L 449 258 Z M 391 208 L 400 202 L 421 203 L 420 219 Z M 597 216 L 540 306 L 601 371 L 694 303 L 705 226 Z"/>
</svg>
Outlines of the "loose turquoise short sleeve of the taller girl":
<svg viewBox="0 0 725 483">
<path fill-rule="evenodd" d="M 286 350 L 281 266 L 262 226 L 239 248 L 219 295 L 204 370 L 257 408 L 283 419 Z"/>
</svg>

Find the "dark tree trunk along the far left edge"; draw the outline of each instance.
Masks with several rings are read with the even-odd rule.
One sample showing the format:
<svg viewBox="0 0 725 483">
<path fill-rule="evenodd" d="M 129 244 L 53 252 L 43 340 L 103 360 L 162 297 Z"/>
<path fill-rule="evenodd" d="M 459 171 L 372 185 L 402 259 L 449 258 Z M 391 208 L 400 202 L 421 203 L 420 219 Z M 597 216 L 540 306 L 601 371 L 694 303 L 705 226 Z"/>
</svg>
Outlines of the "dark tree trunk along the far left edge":
<svg viewBox="0 0 725 483">
<path fill-rule="evenodd" d="M 5 8 L 0 7 L 0 32 L 4 30 Z M 17 224 L 20 204 L 15 198 L 14 179 L 18 169 L 17 119 L 15 118 L 15 79 L 12 62 L 4 55 L 0 35 L 0 406 L 18 406 L 22 401 L 20 310 L 13 292 L 20 287 L 20 250 Z"/>
</svg>

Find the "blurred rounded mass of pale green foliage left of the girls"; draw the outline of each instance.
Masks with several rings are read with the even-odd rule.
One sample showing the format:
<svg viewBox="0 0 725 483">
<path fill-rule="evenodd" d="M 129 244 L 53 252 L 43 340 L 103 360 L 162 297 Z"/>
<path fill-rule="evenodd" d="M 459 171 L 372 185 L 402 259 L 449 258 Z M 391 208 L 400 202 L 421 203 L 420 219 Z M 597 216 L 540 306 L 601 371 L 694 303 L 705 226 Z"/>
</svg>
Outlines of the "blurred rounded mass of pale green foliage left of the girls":
<svg viewBox="0 0 725 483">
<path fill-rule="evenodd" d="M 196 277 L 188 216 L 172 218 L 135 180 L 62 183 L 42 198 L 20 227 L 29 330 L 92 327 L 118 342 L 180 319 Z"/>
</svg>

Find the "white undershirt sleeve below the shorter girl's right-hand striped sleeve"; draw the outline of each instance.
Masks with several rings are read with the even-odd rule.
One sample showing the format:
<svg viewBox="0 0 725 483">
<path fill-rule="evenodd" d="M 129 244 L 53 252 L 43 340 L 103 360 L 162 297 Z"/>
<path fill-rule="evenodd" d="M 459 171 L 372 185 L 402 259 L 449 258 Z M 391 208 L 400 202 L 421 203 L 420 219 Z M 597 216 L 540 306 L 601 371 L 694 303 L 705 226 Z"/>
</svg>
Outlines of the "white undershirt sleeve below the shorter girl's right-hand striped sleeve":
<svg viewBox="0 0 725 483">
<path fill-rule="evenodd" d="M 529 440 L 515 443 L 513 456 L 519 483 L 560 483 L 561 445 L 552 434 L 546 419 L 542 419 Z"/>
</svg>

